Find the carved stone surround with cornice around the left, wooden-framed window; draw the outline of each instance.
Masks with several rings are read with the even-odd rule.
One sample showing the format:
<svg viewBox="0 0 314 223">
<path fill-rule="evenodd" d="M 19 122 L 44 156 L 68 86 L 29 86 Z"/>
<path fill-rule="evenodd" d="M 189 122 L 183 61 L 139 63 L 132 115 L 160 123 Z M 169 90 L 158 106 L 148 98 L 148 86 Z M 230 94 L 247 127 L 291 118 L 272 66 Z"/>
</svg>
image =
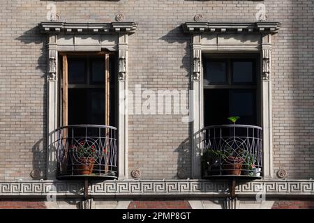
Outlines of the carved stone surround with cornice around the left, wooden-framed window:
<svg viewBox="0 0 314 223">
<path fill-rule="evenodd" d="M 47 179 L 56 178 L 57 159 L 53 142 L 58 126 L 59 52 L 101 52 L 102 49 L 118 53 L 119 100 L 124 101 L 118 118 L 119 178 L 128 178 L 128 35 L 134 33 L 135 22 L 66 23 L 40 22 L 41 33 L 47 34 Z M 123 155 L 121 155 L 123 154 Z"/>
</svg>

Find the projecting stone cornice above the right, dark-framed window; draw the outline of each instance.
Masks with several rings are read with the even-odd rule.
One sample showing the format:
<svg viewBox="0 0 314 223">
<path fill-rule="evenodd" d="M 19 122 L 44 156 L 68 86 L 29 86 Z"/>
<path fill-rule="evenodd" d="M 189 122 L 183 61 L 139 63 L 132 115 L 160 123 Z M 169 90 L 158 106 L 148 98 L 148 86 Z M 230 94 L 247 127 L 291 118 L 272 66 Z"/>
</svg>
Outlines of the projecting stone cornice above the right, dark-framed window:
<svg viewBox="0 0 314 223">
<path fill-rule="evenodd" d="M 186 33 L 277 33 L 280 22 L 185 22 Z"/>
</svg>

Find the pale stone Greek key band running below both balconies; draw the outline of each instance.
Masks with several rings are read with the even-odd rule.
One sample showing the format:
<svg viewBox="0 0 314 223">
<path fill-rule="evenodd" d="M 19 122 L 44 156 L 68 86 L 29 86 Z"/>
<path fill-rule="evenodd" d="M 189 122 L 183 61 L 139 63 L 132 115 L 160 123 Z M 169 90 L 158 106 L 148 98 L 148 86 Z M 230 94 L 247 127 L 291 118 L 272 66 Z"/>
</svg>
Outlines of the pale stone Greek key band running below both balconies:
<svg viewBox="0 0 314 223">
<path fill-rule="evenodd" d="M 0 197 L 77 197 L 84 194 L 81 181 L 31 181 L 0 183 Z M 89 185 L 92 197 L 134 197 L 134 196 L 210 196 L 225 197 L 229 182 L 225 180 L 107 180 Z M 238 196 L 308 197 L 314 196 L 314 180 L 254 180 L 239 182 Z"/>
</svg>

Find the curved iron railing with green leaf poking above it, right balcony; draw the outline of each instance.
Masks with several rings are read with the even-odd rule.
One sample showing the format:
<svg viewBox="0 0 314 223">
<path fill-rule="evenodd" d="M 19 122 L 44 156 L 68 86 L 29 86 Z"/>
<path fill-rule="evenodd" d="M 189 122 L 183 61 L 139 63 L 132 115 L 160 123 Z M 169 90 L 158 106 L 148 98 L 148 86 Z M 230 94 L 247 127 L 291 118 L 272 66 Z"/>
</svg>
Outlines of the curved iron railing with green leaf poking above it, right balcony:
<svg viewBox="0 0 314 223">
<path fill-rule="evenodd" d="M 213 125 L 202 129 L 202 175 L 262 176 L 262 128 Z"/>
</svg>

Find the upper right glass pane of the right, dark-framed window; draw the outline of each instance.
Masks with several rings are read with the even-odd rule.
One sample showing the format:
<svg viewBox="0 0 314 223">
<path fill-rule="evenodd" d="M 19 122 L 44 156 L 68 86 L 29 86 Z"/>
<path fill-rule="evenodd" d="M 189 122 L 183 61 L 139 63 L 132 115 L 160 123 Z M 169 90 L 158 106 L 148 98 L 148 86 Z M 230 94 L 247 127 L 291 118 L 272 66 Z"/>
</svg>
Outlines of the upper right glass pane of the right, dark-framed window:
<svg viewBox="0 0 314 223">
<path fill-rule="evenodd" d="M 252 61 L 234 61 L 232 63 L 232 82 L 252 83 L 253 82 L 253 63 Z"/>
</svg>

